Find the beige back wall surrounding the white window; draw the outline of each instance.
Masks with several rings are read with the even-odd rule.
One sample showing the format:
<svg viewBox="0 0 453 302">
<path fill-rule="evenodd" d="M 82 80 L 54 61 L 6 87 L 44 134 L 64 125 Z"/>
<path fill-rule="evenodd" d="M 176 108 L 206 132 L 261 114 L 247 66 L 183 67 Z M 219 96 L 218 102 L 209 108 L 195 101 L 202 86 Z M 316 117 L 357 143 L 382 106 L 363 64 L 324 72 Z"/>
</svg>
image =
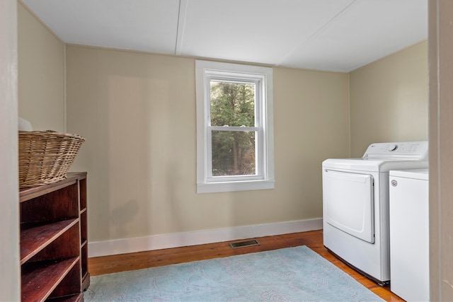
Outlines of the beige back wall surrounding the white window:
<svg viewBox="0 0 453 302">
<path fill-rule="evenodd" d="M 195 59 L 68 46 L 90 240 L 320 218 L 321 162 L 349 152 L 348 77 L 274 72 L 275 190 L 196 194 Z"/>
</svg>

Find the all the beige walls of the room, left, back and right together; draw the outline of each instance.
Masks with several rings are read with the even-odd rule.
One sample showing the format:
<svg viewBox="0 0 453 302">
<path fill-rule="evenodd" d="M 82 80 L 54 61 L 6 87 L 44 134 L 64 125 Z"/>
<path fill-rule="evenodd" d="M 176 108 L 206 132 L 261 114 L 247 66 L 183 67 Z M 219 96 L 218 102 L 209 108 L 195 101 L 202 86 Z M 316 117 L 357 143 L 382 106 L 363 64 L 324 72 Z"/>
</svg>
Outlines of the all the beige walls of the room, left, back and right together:
<svg viewBox="0 0 453 302">
<path fill-rule="evenodd" d="M 86 138 L 90 241 L 321 218 L 324 159 L 428 136 L 426 42 L 349 75 L 274 68 L 275 190 L 196 194 L 195 59 L 65 46 L 18 10 L 19 115 Z"/>
</svg>

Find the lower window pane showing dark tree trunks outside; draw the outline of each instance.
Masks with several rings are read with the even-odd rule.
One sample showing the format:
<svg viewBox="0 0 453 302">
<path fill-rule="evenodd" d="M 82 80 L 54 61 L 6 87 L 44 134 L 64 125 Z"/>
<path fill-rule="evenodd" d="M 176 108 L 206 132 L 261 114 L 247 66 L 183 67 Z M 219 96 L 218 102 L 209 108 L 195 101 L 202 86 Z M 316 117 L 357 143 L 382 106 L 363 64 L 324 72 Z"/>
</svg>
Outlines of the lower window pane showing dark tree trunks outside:
<svg viewBox="0 0 453 302">
<path fill-rule="evenodd" d="M 212 131 L 212 176 L 256 175 L 254 131 Z"/>
</svg>

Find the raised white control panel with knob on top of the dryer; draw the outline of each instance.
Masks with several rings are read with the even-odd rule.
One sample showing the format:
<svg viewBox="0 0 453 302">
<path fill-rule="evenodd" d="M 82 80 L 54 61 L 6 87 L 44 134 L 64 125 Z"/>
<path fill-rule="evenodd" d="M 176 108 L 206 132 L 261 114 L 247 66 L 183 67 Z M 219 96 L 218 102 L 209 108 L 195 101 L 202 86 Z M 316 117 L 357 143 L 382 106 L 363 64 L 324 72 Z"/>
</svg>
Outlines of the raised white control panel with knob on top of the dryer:
<svg viewBox="0 0 453 302">
<path fill-rule="evenodd" d="M 404 141 L 397 143 L 376 143 L 368 146 L 363 159 L 417 159 L 428 161 L 428 141 Z"/>
</svg>

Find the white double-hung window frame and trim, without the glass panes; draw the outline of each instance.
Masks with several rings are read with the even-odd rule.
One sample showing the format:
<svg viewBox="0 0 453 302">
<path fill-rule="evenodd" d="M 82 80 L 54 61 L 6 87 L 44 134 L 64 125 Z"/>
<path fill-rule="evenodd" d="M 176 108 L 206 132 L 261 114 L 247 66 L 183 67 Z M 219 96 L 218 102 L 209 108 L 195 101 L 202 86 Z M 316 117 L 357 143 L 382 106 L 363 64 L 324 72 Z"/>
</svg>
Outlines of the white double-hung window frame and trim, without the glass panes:
<svg viewBox="0 0 453 302">
<path fill-rule="evenodd" d="M 256 83 L 256 175 L 212 176 L 210 80 Z M 273 69 L 222 62 L 195 62 L 197 94 L 197 193 L 267 190 L 275 186 Z M 236 127 L 229 127 L 234 131 Z M 241 127 L 237 127 L 241 128 Z M 239 129 L 238 129 L 239 130 Z M 241 128 L 243 130 L 243 128 Z"/>
</svg>

